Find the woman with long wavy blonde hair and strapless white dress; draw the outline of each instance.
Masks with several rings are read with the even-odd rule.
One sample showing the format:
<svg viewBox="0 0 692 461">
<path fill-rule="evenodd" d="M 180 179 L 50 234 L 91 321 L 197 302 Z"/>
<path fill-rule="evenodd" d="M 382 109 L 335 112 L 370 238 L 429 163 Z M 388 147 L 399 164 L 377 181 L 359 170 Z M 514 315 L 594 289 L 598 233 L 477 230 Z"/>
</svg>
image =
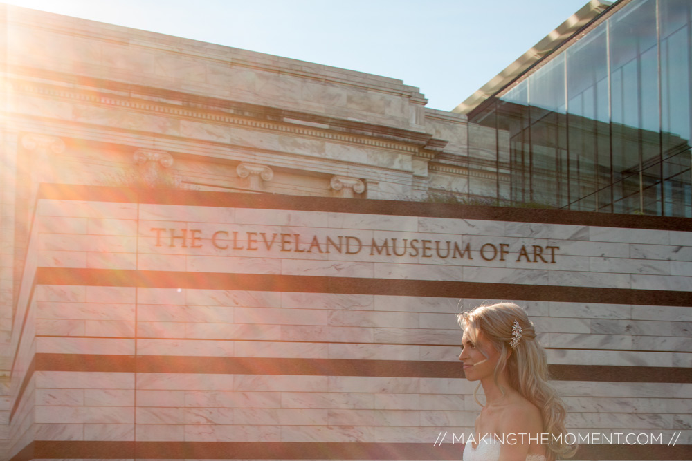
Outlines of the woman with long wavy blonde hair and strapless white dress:
<svg viewBox="0 0 692 461">
<path fill-rule="evenodd" d="M 464 461 L 553 461 L 576 446 L 555 440 L 565 432 L 565 406 L 547 382 L 545 350 L 534 325 L 514 303 L 480 305 L 458 316 L 464 330 L 464 373 L 479 381 L 486 403 Z M 478 388 L 476 388 L 476 391 Z"/>
</svg>

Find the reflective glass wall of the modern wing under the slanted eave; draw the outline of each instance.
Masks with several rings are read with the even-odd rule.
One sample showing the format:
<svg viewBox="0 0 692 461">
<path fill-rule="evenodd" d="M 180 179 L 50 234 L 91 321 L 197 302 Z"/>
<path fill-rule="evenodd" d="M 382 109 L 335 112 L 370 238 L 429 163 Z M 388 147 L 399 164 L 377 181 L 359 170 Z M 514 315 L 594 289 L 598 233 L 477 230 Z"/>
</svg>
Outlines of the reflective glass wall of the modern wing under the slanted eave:
<svg viewBox="0 0 692 461">
<path fill-rule="evenodd" d="M 691 34 L 689 0 L 632 0 L 470 113 L 500 203 L 692 217 Z"/>
</svg>

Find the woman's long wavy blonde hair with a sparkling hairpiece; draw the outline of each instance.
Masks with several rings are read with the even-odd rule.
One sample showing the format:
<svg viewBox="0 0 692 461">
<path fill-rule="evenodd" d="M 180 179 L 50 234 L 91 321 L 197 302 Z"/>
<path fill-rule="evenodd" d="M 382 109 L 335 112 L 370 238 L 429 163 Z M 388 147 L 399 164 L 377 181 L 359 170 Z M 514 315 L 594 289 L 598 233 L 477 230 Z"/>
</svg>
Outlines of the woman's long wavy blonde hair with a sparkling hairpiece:
<svg viewBox="0 0 692 461">
<path fill-rule="evenodd" d="M 471 341 L 475 342 L 478 333 L 482 332 L 484 339 L 500 352 L 500 359 L 495 366 L 495 384 L 498 384 L 498 375 L 504 370 L 509 385 L 540 410 L 543 432 L 564 435 L 567 414 L 565 404 L 548 382 L 545 349 L 536 340 L 534 323 L 531 323 L 526 312 L 515 303 L 480 305 L 471 311 L 462 312 L 457 320 Z M 516 348 L 511 348 L 512 326 L 515 321 L 522 328 L 522 335 Z M 504 394 L 501 386 L 500 390 Z M 473 397 L 476 398 L 475 391 Z M 548 460 L 555 460 L 558 456 L 571 458 L 576 452 L 577 447 L 565 444 L 564 437 L 550 439 L 551 443 L 546 446 Z"/>
</svg>

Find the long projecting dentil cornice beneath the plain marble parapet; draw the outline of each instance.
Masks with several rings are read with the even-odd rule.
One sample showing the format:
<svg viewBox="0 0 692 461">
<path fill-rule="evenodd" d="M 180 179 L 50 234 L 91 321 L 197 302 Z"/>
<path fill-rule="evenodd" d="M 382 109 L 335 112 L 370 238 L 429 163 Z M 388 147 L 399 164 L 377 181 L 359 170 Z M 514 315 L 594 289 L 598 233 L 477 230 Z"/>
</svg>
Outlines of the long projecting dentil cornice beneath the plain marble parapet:
<svg viewBox="0 0 692 461">
<path fill-rule="evenodd" d="M 7 84 L 10 85 L 10 87 L 7 88 L 8 90 L 21 93 L 33 93 L 35 95 L 71 100 L 74 102 L 116 106 L 122 109 L 145 111 L 155 115 L 165 114 L 219 124 L 246 126 L 253 129 L 290 133 L 293 135 L 320 138 L 334 142 L 343 142 L 345 144 L 360 144 L 413 155 L 417 155 L 421 148 L 439 151 L 446 145 L 446 141 L 435 140 L 427 133 L 393 129 L 386 126 L 367 124 L 366 122 L 334 120 L 329 119 L 329 117 L 322 117 L 324 120 L 320 120 L 320 117 L 315 115 L 308 115 L 306 117 L 306 115 L 302 113 L 288 113 L 287 111 L 281 110 L 275 110 L 276 113 L 271 114 L 270 117 L 274 120 L 258 120 L 250 116 L 230 113 L 235 111 L 244 114 L 250 112 L 250 115 L 260 115 L 267 111 L 273 111 L 272 108 L 257 106 L 255 108 L 250 108 L 251 110 L 255 109 L 255 113 L 252 113 L 251 110 L 248 111 L 247 106 L 249 106 L 249 104 L 235 104 L 237 108 L 216 106 L 212 109 L 207 109 L 206 107 L 196 108 L 190 105 L 182 106 L 179 102 L 183 99 L 183 95 L 181 94 L 169 95 L 170 98 L 168 98 L 167 102 L 158 102 L 144 99 L 144 97 L 141 96 L 135 97 L 134 95 L 130 95 L 129 97 L 124 97 L 111 92 L 106 93 L 102 88 L 94 88 L 91 91 L 86 89 L 75 90 L 73 88 L 28 82 L 25 79 L 10 81 Z M 114 92 L 117 91 L 117 89 L 112 88 L 110 91 Z M 194 99 L 194 95 L 185 95 L 185 102 L 189 103 L 190 101 L 188 100 L 190 98 Z M 167 98 L 161 97 L 160 99 L 166 100 Z M 215 102 L 211 101 L 212 98 L 198 97 L 197 99 L 199 99 L 201 103 L 197 104 L 198 107 L 208 106 L 210 102 Z M 176 100 L 178 104 L 175 104 Z M 233 103 L 226 101 L 226 105 L 228 106 L 229 104 L 233 106 Z M 297 117 L 301 117 L 301 120 L 307 119 L 307 124 L 295 123 L 295 121 L 300 121 Z M 311 122 L 310 120 L 315 120 L 315 122 Z M 329 128 L 318 128 L 315 126 L 318 123 L 328 126 Z M 348 131 L 355 131 L 356 134 L 348 133 Z"/>
</svg>

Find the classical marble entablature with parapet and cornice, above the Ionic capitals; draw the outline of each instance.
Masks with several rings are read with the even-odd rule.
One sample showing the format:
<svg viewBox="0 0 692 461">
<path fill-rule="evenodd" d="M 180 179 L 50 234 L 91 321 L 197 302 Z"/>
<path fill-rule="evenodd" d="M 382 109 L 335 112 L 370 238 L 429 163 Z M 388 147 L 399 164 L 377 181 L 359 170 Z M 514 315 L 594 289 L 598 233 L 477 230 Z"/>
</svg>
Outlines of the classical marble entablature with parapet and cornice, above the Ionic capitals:
<svg viewBox="0 0 692 461">
<path fill-rule="evenodd" d="M 466 116 L 426 109 L 397 79 L 14 6 L 0 13 L 12 35 L 3 84 L 13 129 L 107 142 L 127 167 L 94 153 L 87 164 L 127 169 L 134 151 L 154 147 L 188 159 L 168 171 L 183 186 L 224 183 L 181 171 L 190 161 L 228 163 L 233 177 L 250 162 L 277 169 L 278 183 L 282 172 L 322 178 L 282 193 L 329 195 L 329 178 L 345 176 L 389 191 L 378 198 L 410 198 L 428 162 L 467 153 Z"/>
</svg>

